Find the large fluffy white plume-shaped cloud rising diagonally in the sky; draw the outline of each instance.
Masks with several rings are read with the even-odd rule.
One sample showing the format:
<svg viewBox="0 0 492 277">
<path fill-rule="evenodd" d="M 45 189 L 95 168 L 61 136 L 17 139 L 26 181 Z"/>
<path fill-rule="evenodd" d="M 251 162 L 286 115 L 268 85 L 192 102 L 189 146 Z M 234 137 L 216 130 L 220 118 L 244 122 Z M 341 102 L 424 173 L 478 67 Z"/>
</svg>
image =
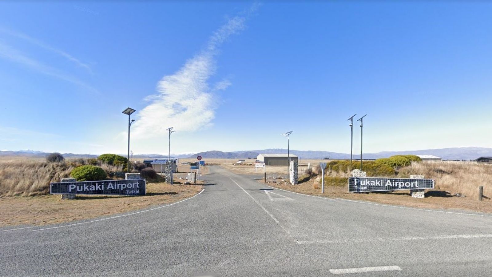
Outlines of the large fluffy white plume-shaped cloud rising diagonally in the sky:
<svg viewBox="0 0 492 277">
<path fill-rule="evenodd" d="M 215 74 L 215 57 L 218 47 L 231 35 L 245 29 L 249 15 L 257 8 L 254 4 L 243 15 L 229 19 L 209 38 L 207 47 L 186 61 L 172 75 L 164 76 L 157 84 L 157 95 L 148 97 L 150 102 L 137 115 L 135 138 L 150 138 L 167 134 L 167 127 L 178 131 L 196 131 L 212 125 L 215 116 L 215 93 L 231 85 L 222 80 L 209 85 Z"/>
</svg>

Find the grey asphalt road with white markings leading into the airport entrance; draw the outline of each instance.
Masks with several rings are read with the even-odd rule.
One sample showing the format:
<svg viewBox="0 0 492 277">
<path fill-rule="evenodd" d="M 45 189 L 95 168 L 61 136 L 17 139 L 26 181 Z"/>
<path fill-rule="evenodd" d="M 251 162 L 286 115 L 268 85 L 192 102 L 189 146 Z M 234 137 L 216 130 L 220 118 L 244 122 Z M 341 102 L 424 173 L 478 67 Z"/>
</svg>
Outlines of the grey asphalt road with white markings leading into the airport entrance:
<svg viewBox="0 0 492 277">
<path fill-rule="evenodd" d="M 490 215 L 265 190 L 210 172 L 211 185 L 173 205 L 0 229 L 0 275 L 492 275 Z"/>
</svg>

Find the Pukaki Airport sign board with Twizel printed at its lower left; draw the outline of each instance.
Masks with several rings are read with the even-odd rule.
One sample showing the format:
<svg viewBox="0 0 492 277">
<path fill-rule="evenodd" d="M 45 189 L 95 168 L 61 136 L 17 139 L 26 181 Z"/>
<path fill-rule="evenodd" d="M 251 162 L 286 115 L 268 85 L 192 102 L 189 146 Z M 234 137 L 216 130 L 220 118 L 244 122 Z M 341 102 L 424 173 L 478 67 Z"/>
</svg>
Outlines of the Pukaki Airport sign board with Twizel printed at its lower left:
<svg viewBox="0 0 492 277">
<path fill-rule="evenodd" d="M 434 188 L 433 179 L 349 177 L 348 191 L 389 191 Z"/>
</svg>

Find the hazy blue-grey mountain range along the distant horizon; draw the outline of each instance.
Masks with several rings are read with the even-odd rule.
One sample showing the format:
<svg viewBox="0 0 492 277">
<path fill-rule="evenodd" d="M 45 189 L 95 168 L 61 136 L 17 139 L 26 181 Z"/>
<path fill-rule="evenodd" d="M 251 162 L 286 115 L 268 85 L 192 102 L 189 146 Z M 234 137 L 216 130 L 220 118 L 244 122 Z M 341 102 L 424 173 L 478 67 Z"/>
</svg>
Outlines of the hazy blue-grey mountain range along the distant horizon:
<svg viewBox="0 0 492 277">
<path fill-rule="evenodd" d="M 233 152 L 223 152 L 223 151 L 206 151 L 200 152 L 193 155 L 183 154 L 183 155 L 173 155 L 176 158 L 196 158 L 200 155 L 204 159 L 247 159 L 256 158 L 259 154 L 285 154 L 287 149 L 270 148 L 263 150 L 247 150 L 247 151 L 233 151 Z M 301 159 L 350 159 L 350 154 L 329 152 L 329 151 L 300 151 L 300 150 L 290 150 L 289 153 L 297 155 Z M 45 157 L 46 152 L 34 151 L 34 150 L 20 150 L 20 151 L 0 151 L 0 156 L 19 156 L 19 157 Z M 387 158 L 393 155 L 434 155 L 441 157 L 443 160 L 475 160 L 482 156 L 492 156 L 492 148 L 488 147 L 451 147 L 451 148 L 440 148 L 440 149 L 424 149 L 424 150 L 409 150 L 409 151 L 383 151 L 377 153 L 364 153 L 364 159 L 378 159 Z M 64 153 L 62 154 L 65 158 L 96 158 L 98 155 L 91 154 L 73 154 Z M 126 156 L 123 154 L 122 156 Z M 357 159 L 359 157 L 358 153 L 354 153 L 353 158 Z M 167 155 L 162 154 L 135 154 L 134 159 L 142 158 L 167 158 Z"/>
</svg>

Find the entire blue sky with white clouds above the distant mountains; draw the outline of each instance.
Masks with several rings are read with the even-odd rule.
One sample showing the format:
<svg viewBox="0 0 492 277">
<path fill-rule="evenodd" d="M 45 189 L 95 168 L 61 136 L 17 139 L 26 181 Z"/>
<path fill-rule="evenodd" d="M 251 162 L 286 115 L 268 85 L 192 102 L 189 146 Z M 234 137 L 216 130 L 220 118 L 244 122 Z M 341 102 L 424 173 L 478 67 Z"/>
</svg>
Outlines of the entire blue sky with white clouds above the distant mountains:
<svg viewBox="0 0 492 277">
<path fill-rule="evenodd" d="M 0 150 L 492 147 L 492 2 L 0 2 Z M 360 151 L 354 120 L 354 152 Z"/>
</svg>

